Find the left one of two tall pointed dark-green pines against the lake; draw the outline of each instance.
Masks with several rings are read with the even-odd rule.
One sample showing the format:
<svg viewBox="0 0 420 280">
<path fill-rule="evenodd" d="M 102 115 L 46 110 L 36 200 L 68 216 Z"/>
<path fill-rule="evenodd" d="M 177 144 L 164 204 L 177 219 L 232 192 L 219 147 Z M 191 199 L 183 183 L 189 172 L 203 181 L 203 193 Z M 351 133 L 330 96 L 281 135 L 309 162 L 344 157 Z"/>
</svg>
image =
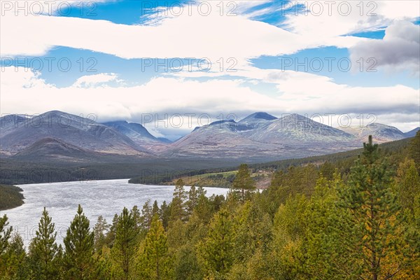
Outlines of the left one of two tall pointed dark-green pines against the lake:
<svg viewBox="0 0 420 280">
<path fill-rule="evenodd" d="M 45 207 L 35 235 L 29 246 L 29 257 L 34 278 L 38 280 L 57 279 L 58 267 L 55 265 L 58 253 L 58 247 L 55 243 L 57 232 L 55 232 L 55 224 L 52 223 Z"/>
</svg>

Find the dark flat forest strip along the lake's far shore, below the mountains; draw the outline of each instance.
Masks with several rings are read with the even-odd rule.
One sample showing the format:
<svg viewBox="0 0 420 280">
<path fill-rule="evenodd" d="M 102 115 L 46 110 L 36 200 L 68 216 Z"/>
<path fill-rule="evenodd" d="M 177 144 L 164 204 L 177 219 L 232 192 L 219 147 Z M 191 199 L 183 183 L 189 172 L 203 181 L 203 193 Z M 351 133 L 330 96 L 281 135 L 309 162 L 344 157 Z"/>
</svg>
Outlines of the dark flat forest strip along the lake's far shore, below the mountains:
<svg viewBox="0 0 420 280">
<path fill-rule="evenodd" d="M 168 182 L 180 174 L 209 173 L 215 167 L 239 165 L 238 160 L 220 159 L 139 159 L 132 162 L 74 163 L 74 162 L 20 162 L 0 159 L 0 183 L 21 185 L 29 183 L 53 183 L 66 181 L 93 181 L 127 179 L 141 175 L 139 183 L 157 184 Z M 193 169 L 202 170 L 196 172 Z M 230 168 L 228 168 L 230 169 Z M 186 171 L 187 170 L 187 171 Z M 219 169 L 217 169 L 219 170 Z M 224 171 L 224 169 L 220 169 Z M 162 180 L 164 179 L 165 180 Z"/>
</svg>

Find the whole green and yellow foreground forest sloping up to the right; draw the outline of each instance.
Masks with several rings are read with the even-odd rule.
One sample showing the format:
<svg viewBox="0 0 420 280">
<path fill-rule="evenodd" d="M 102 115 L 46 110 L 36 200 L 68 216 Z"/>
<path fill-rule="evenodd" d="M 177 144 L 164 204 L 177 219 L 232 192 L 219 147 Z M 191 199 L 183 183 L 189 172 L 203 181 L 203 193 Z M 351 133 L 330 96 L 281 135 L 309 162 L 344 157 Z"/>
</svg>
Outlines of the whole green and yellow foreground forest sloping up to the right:
<svg viewBox="0 0 420 280">
<path fill-rule="evenodd" d="M 1 279 L 420 279 L 419 149 L 420 132 L 404 158 L 370 138 L 349 172 L 290 167 L 260 193 L 246 165 L 227 197 L 179 180 L 111 224 L 79 207 L 64 246 L 44 210 L 28 252 L 3 216 Z"/>
</svg>

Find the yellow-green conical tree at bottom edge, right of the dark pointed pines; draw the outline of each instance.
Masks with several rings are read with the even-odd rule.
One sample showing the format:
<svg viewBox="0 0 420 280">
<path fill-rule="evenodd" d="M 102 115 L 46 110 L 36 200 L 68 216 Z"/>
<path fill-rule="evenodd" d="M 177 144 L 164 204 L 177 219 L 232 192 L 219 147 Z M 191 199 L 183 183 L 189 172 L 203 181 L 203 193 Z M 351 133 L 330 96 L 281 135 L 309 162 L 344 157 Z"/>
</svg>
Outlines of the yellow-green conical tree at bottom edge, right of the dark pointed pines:
<svg viewBox="0 0 420 280">
<path fill-rule="evenodd" d="M 144 251 L 139 267 L 141 279 L 168 279 L 169 268 L 167 235 L 162 222 L 155 215 L 144 241 Z"/>
</svg>

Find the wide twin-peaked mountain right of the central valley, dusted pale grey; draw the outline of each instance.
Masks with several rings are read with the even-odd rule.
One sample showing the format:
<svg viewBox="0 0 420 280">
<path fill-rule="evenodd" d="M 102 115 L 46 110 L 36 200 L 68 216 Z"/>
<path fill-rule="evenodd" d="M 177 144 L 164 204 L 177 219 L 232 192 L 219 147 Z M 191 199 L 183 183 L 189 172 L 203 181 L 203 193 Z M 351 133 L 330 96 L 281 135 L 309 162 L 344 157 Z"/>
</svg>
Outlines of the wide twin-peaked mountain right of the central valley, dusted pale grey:
<svg viewBox="0 0 420 280">
<path fill-rule="evenodd" d="M 170 157 L 302 158 L 361 146 L 353 135 L 304 116 L 275 118 L 254 113 L 235 122 L 219 120 L 196 128 L 168 146 Z"/>
</svg>

